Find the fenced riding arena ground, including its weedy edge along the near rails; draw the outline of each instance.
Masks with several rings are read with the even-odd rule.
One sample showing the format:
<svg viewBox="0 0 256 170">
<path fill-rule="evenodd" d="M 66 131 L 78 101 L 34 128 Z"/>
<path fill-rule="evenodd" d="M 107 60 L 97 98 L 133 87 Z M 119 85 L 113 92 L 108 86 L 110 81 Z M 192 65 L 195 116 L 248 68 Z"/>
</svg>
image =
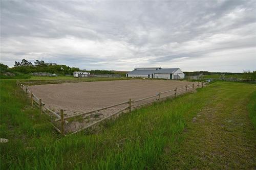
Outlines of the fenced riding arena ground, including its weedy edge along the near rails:
<svg viewBox="0 0 256 170">
<path fill-rule="evenodd" d="M 198 87 L 202 87 L 202 83 L 165 80 L 119 80 L 35 85 L 29 86 L 28 90 L 32 91 L 37 98 L 44 101 L 45 105 L 57 114 L 60 114 L 60 109 L 63 109 L 65 110 L 65 117 L 76 117 L 75 119 L 69 119 L 69 122 L 72 123 L 65 127 L 66 132 L 74 132 L 110 116 L 118 110 L 123 108 L 126 108 L 123 111 L 128 110 L 129 103 L 127 101 L 130 99 L 135 101 L 132 103 L 132 110 L 143 104 L 175 96 L 175 93 L 178 95 L 179 93 L 194 91 Z M 176 88 L 177 91 L 175 91 Z M 161 95 L 161 92 L 164 93 Z M 148 96 L 152 97 L 148 98 Z M 121 105 L 93 111 L 119 103 Z M 75 116 L 89 111 L 93 112 L 79 117 Z"/>
</svg>

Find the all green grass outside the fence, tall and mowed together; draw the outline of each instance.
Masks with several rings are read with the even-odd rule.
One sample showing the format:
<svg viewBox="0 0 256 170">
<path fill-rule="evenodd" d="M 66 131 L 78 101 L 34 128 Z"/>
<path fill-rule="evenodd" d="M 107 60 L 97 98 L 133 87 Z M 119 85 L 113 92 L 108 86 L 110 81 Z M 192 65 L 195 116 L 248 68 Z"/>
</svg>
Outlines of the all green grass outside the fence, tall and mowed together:
<svg viewBox="0 0 256 170">
<path fill-rule="evenodd" d="M 1 80 L 1 169 L 255 169 L 255 91 L 215 82 L 61 137 Z"/>
</svg>

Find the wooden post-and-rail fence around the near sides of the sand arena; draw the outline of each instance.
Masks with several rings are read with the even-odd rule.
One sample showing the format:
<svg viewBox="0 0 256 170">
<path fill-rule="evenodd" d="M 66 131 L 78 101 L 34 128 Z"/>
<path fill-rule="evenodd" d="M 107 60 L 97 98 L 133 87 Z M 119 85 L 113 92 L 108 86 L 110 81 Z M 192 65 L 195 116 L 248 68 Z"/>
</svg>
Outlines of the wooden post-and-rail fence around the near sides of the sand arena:
<svg viewBox="0 0 256 170">
<path fill-rule="evenodd" d="M 79 128 L 78 130 L 68 134 L 68 135 L 72 135 L 72 134 L 76 134 L 82 130 L 85 130 L 85 129 L 88 129 L 94 125 L 97 125 L 98 123 L 102 122 L 103 120 L 105 119 L 108 119 L 110 117 L 113 117 L 114 115 L 117 115 L 119 113 L 122 113 L 122 112 L 131 112 L 132 110 L 136 109 L 136 108 L 139 108 L 139 107 L 142 107 L 142 106 L 145 106 L 145 105 L 149 105 L 149 104 L 152 104 L 154 102 L 159 102 L 159 101 L 163 101 L 167 98 L 171 98 L 171 97 L 177 97 L 177 95 L 179 94 L 182 94 L 182 93 L 186 93 L 188 91 L 195 91 L 196 88 L 200 88 L 200 87 L 204 87 L 206 85 L 206 83 L 203 83 L 203 82 L 198 82 L 198 83 L 193 83 L 193 84 L 190 84 L 190 85 L 186 85 L 182 88 L 175 88 L 175 89 L 171 89 L 171 90 L 168 90 L 168 91 L 163 91 L 163 92 L 158 92 L 157 94 L 155 95 L 152 95 L 152 96 L 148 96 L 146 98 L 143 98 L 143 99 L 139 99 L 139 100 L 132 100 L 132 99 L 129 99 L 125 102 L 121 102 L 121 103 L 118 103 L 118 104 L 115 104 L 115 105 L 111 105 L 111 106 L 107 106 L 107 107 L 103 107 L 103 108 L 99 108 L 99 109 L 95 109 L 95 110 L 91 110 L 91 111 L 87 111 L 87 112 L 82 112 L 82 113 L 79 113 L 79 114 L 75 114 L 75 115 L 69 115 L 69 116 L 66 116 L 64 117 L 63 115 L 63 109 L 60 109 L 60 114 L 54 112 L 53 110 L 49 109 L 48 107 L 45 106 L 45 104 L 42 102 L 41 99 L 38 99 L 33 93 L 32 91 L 30 91 L 28 89 L 27 86 L 21 84 L 19 81 L 17 81 L 17 85 L 19 85 L 25 92 L 26 94 L 30 93 L 30 99 L 31 99 L 31 105 L 32 106 L 37 106 L 41 113 L 45 113 L 45 114 L 48 114 L 48 115 L 51 115 L 53 117 L 55 117 L 54 119 L 51 120 L 51 125 L 59 132 L 61 133 L 63 136 L 66 136 L 65 134 L 65 126 L 69 123 L 67 121 L 67 119 L 70 119 L 70 118 L 75 118 L 75 117 L 78 117 L 78 116 L 82 116 L 82 115 L 88 115 L 90 113 L 95 113 L 97 111 L 101 111 L 101 110 L 105 110 L 105 109 L 109 109 L 109 108 L 114 108 L 116 106 L 121 106 L 121 105 L 124 105 L 124 107 L 122 107 L 121 109 L 115 111 L 114 113 L 102 118 L 102 119 L 99 119 L 97 120 L 96 122 L 90 124 L 90 125 L 87 125 L 85 127 L 81 127 Z M 147 101 L 147 100 L 150 100 L 150 99 L 153 99 L 151 101 Z M 143 101 L 145 101 L 143 103 Z M 57 126 L 55 125 L 57 122 L 60 122 L 59 128 L 57 128 Z"/>
</svg>

